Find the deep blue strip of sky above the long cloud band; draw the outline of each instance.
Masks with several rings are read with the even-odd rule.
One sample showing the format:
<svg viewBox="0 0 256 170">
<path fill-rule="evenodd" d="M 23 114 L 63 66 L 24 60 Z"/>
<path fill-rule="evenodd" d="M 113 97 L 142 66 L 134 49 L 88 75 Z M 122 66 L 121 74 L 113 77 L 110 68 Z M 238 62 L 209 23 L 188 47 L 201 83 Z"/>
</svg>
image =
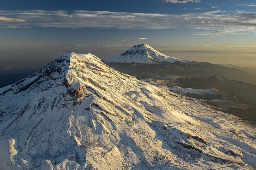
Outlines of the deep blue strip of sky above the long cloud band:
<svg viewBox="0 0 256 170">
<path fill-rule="evenodd" d="M 249 6 L 252 5 L 252 6 Z M 139 13 L 208 12 L 211 9 L 255 12 L 255 0 L 2 0 L 1 10 L 92 10 Z M 200 9 L 199 9 L 200 8 Z"/>
</svg>

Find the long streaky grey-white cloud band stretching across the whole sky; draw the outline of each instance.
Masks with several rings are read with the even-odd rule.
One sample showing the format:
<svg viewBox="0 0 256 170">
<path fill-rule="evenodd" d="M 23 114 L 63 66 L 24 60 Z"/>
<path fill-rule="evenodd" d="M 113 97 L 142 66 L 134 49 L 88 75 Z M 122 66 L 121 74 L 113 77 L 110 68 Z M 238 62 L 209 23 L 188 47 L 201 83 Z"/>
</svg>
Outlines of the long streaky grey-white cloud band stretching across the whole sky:
<svg viewBox="0 0 256 170">
<path fill-rule="evenodd" d="M 0 28 L 118 28 L 176 29 L 185 28 L 204 35 L 256 33 L 256 12 L 232 13 L 216 10 L 203 13 L 130 13 L 110 11 L 0 11 Z M 72 16 L 72 17 L 71 17 Z M 11 21 L 16 22 L 6 22 Z M 26 22 L 25 22 L 26 21 Z"/>
</svg>

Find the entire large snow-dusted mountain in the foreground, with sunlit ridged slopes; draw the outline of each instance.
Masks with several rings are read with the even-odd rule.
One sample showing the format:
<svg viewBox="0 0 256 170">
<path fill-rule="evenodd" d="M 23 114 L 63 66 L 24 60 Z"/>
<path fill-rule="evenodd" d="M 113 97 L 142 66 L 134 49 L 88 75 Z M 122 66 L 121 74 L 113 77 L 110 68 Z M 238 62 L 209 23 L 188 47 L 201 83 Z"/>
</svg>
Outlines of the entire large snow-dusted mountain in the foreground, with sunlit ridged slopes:
<svg viewBox="0 0 256 170">
<path fill-rule="evenodd" d="M 1 169 L 254 169 L 255 127 L 66 54 L 0 89 Z"/>
</svg>

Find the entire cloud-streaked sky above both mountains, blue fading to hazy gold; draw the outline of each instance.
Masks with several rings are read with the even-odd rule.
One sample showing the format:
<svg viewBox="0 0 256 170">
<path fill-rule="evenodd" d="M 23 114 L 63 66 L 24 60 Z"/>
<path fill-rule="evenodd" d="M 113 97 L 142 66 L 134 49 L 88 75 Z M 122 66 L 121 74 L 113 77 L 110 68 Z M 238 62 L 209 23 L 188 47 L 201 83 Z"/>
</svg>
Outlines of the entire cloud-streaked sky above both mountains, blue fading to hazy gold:
<svg viewBox="0 0 256 170">
<path fill-rule="evenodd" d="M 142 43 L 186 60 L 256 66 L 255 0 L 0 0 L 0 4 L 2 78 L 7 73 L 35 72 L 63 53 L 90 52 L 105 59 Z"/>
</svg>

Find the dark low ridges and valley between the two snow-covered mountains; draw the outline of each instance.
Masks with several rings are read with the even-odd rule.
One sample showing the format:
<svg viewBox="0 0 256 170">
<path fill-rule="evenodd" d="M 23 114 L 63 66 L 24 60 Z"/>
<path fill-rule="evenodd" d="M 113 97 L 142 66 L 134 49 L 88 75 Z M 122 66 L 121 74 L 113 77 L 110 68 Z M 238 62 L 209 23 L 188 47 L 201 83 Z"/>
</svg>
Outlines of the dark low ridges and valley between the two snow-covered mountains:
<svg viewBox="0 0 256 170">
<path fill-rule="evenodd" d="M 219 76 L 203 79 L 165 75 L 142 80 L 182 96 L 207 100 L 215 109 L 234 114 L 256 125 L 256 85 L 254 84 Z"/>
</svg>

